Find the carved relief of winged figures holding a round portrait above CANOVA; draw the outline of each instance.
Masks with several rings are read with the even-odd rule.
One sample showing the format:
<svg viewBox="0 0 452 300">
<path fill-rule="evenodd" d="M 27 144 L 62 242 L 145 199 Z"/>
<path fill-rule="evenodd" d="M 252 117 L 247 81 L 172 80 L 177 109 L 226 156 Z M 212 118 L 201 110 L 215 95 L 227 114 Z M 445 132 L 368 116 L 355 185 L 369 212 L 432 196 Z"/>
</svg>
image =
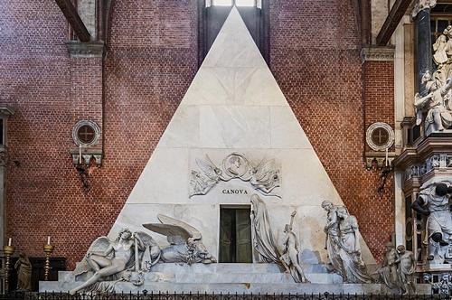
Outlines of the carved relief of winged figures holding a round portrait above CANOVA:
<svg viewBox="0 0 452 300">
<path fill-rule="evenodd" d="M 205 195 L 220 182 L 229 182 L 238 178 L 243 182 L 249 182 L 258 192 L 268 196 L 280 196 L 273 192 L 280 186 L 279 169 L 274 159 L 262 159 L 259 164 L 253 165 L 239 153 L 226 156 L 221 168 L 214 164 L 209 157 L 196 158 L 196 164 L 201 171 L 192 170 L 190 178 L 190 198 L 194 195 Z"/>
</svg>

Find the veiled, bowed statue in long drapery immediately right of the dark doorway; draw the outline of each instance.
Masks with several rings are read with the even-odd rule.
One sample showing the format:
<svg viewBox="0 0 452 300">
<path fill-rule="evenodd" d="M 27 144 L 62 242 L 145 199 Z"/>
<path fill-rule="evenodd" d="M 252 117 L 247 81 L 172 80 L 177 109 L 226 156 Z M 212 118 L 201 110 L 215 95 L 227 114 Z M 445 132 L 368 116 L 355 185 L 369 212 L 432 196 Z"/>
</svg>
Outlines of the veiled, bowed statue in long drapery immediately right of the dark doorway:
<svg viewBox="0 0 452 300">
<path fill-rule="evenodd" d="M 273 237 L 268 211 L 258 194 L 251 196 L 251 225 L 253 248 L 261 263 L 279 264 L 278 248 Z"/>
</svg>

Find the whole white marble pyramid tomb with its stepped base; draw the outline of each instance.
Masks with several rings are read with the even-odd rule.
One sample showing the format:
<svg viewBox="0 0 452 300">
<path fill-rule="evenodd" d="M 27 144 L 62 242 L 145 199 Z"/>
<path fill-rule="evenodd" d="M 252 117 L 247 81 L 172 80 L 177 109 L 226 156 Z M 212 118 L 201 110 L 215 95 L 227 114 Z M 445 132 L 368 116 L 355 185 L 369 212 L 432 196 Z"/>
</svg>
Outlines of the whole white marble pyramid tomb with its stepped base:
<svg viewBox="0 0 452 300">
<path fill-rule="evenodd" d="M 89 286 L 118 293 L 385 293 L 381 284 L 343 284 L 343 277 L 328 272 L 325 200 L 344 205 L 234 7 L 108 238 L 95 240 L 76 270 L 60 272 L 58 282 L 41 282 L 40 291 L 76 293 Z M 259 211 L 261 203 L 264 234 L 272 231 L 278 262 L 262 262 L 253 239 L 252 263 L 215 263 L 221 254 L 221 210 Z M 243 218 L 253 222 L 255 214 Z M 289 221 L 299 240 L 297 260 L 310 283 L 298 283 L 281 269 L 278 248 Z M 374 266 L 359 238 L 363 261 Z M 130 263 L 131 245 L 140 243 L 146 247 L 134 247 L 139 264 L 121 267 L 127 280 L 108 279 L 118 271 L 92 279 L 99 270 L 86 268 L 86 262 L 96 247 L 122 245 L 115 251 L 128 255 Z M 198 256 L 203 248 L 208 259 Z"/>
</svg>

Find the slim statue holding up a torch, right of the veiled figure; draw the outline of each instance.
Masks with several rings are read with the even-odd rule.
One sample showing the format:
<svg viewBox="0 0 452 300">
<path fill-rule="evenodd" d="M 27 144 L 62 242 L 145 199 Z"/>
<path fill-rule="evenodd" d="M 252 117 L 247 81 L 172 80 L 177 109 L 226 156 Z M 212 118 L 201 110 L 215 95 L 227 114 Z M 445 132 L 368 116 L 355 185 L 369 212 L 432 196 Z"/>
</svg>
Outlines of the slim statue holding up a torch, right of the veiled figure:
<svg viewBox="0 0 452 300">
<path fill-rule="evenodd" d="M 284 239 L 283 239 L 283 255 L 281 256 L 281 262 L 288 267 L 288 272 L 292 275 L 295 282 L 309 282 L 303 269 L 300 266 L 298 260 L 298 239 L 297 235 L 292 231 L 292 225 L 294 222 L 294 217 L 297 211 L 292 212 L 290 224 L 286 224 L 284 228 Z"/>
</svg>

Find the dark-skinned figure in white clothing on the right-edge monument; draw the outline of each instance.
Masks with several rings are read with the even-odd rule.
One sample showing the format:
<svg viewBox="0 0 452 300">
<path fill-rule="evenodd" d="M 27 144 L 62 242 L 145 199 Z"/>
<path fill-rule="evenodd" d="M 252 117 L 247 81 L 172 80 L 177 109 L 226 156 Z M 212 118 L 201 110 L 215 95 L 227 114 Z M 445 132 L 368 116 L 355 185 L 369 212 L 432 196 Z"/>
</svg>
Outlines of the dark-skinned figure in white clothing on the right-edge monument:
<svg viewBox="0 0 452 300">
<path fill-rule="evenodd" d="M 430 183 L 421 187 L 418 199 L 411 205 L 413 210 L 427 216 L 424 244 L 428 245 L 428 260 L 438 263 L 444 263 L 452 239 L 451 194 L 450 183 Z"/>
</svg>

